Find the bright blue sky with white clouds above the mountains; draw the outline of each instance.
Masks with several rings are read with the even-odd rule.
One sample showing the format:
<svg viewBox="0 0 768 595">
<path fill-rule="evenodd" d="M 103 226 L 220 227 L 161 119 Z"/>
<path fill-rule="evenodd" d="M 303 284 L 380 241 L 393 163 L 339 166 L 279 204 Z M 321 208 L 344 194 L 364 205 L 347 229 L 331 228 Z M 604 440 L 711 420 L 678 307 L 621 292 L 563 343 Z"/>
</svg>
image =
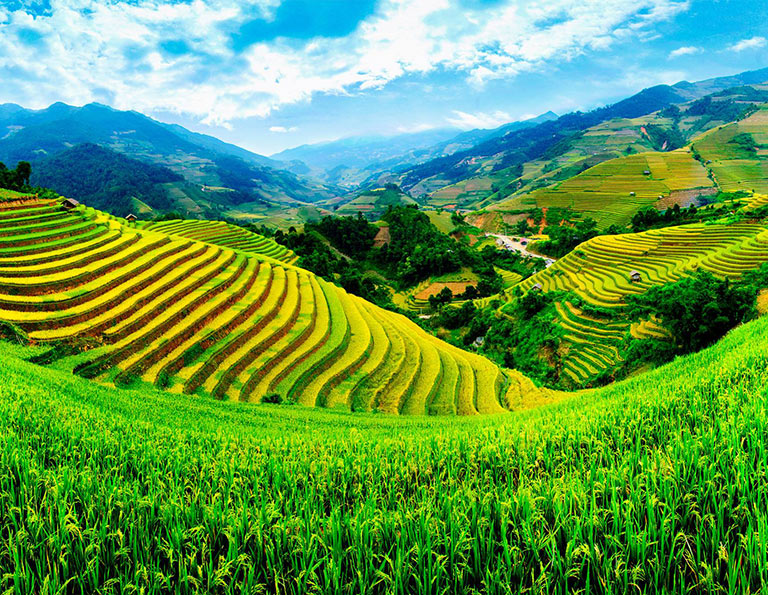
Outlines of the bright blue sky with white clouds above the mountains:
<svg viewBox="0 0 768 595">
<path fill-rule="evenodd" d="M 265 155 L 766 66 L 766 0 L 0 0 L 0 103 L 95 101 Z"/>
</svg>

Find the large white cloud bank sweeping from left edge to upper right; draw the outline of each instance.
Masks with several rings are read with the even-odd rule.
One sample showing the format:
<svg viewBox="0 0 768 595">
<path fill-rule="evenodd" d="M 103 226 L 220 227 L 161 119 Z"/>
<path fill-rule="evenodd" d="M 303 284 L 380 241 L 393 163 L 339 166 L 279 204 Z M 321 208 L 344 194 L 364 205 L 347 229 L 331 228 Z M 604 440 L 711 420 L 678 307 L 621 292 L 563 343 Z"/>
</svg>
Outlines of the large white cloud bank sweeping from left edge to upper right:
<svg viewBox="0 0 768 595">
<path fill-rule="evenodd" d="M 236 52 L 231 34 L 255 16 L 272 18 L 278 4 L 50 0 L 50 10 L 34 18 L 5 9 L 0 102 L 102 101 L 226 125 L 316 94 L 356 94 L 436 70 L 481 86 L 639 39 L 688 7 L 687 0 L 507 0 L 471 10 L 452 0 L 381 0 L 346 37 L 277 38 Z M 22 43 L 24 29 L 43 41 Z M 169 40 L 189 51 L 164 51 Z"/>
</svg>

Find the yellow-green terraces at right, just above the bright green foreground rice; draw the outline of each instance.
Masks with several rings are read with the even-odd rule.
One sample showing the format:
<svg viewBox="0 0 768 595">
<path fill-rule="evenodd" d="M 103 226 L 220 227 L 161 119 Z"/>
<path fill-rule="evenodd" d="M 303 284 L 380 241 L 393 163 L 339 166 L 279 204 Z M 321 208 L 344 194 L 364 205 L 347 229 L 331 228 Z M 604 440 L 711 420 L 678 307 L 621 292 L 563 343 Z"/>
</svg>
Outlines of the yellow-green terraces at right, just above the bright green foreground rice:
<svg viewBox="0 0 768 595">
<path fill-rule="evenodd" d="M 604 312 L 614 311 L 612 316 L 590 316 L 571 301 L 556 304 L 555 322 L 564 329 L 567 344 L 563 376 L 574 385 L 581 385 L 621 362 L 621 346 L 628 335 L 665 336 L 657 321 L 630 324 L 623 317 L 626 296 L 676 281 L 695 270 L 734 278 L 765 262 L 765 226 L 693 224 L 639 234 L 599 236 L 516 287 L 523 291 L 540 287 L 547 292 L 571 292 L 587 305 Z M 630 273 L 634 271 L 640 274 L 639 281 L 631 280 Z M 502 295 L 511 299 L 512 293 Z"/>
</svg>

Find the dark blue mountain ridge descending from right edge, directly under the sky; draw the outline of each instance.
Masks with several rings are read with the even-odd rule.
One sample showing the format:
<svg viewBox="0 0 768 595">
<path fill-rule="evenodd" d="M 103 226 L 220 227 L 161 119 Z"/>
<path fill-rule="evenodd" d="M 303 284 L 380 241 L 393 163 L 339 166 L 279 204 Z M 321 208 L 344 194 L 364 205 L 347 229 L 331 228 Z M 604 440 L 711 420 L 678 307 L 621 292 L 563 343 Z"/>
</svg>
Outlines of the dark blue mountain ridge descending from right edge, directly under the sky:
<svg viewBox="0 0 768 595">
<path fill-rule="evenodd" d="M 567 150 L 568 143 L 591 127 L 614 119 L 633 119 L 664 108 L 681 105 L 707 94 L 750 82 L 768 80 L 768 69 L 749 71 L 730 77 L 708 79 L 696 83 L 686 81 L 676 85 L 657 85 L 602 108 L 590 112 L 573 112 L 502 136 L 485 139 L 471 148 L 437 157 L 424 163 L 405 166 L 391 172 L 383 181 L 395 182 L 412 196 L 432 195 L 443 188 L 463 182 L 477 191 L 470 194 L 470 202 L 489 197 L 499 187 L 509 184 L 520 176 L 520 168 L 527 162 L 544 155 Z M 449 194 L 466 194 L 457 189 Z M 442 201 L 456 203 L 450 198 Z M 460 202 L 460 201 L 459 201 Z"/>
</svg>

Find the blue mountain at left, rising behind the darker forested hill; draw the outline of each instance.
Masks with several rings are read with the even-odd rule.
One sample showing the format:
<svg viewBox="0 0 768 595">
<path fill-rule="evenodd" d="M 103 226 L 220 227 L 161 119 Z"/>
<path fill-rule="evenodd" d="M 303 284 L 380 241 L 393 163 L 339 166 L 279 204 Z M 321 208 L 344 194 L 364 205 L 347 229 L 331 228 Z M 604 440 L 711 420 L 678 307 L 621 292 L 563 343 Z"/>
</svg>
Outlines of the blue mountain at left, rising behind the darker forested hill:
<svg viewBox="0 0 768 595">
<path fill-rule="evenodd" d="M 169 189 L 170 206 L 187 215 L 253 218 L 337 194 L 327 185 L 274 167 L 277 163 L 266 157 L 137 112 L 95 103 L 83 107 L 56 103 L 44 110 L 13 105 L 0 109 L 2 162 L 26 160 L 35 169 L 46 159 L 85 143 L 178 174 L 180 181 Z"/>
</svg>

